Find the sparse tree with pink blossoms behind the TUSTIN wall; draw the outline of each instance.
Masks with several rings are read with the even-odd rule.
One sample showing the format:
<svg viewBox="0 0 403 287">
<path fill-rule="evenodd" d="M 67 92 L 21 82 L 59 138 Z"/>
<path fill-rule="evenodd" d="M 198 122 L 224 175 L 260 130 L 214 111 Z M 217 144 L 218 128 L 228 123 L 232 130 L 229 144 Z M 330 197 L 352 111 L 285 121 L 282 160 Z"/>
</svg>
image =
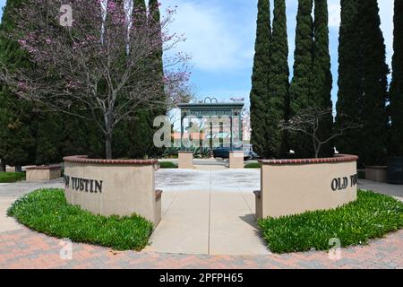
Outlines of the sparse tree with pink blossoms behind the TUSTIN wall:
<svg viewBox="0 0 403 287">
<path fill-rule="evenodd" d="M 7 36 L 19 41 L 35 68 L 0 69 L 0 81 L 22 99 L 94 120 L 104 135 L 107 159 L 116 125 L 133 119 L 139 107 L 172 107 L 182 100 L 189 77 L 188 57 L 171 53 L 164 59 L 163 79 L 150 80 L 148 59 L 184 40 L 167 30 L 175 11 L 168 9 L 156 25 L 151 13 L 127 9 L 123 2 L 27 1 L 14 13 L 19 29 Z M 164 99 L 158 96 L 162 87 Z"/>
</svg>

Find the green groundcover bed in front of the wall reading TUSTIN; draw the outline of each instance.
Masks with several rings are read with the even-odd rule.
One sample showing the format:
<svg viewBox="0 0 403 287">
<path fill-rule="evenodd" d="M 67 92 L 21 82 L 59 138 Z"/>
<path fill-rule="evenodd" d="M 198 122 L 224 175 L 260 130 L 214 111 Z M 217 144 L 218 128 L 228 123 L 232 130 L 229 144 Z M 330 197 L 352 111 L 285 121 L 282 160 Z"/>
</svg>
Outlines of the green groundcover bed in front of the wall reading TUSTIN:
<svg viewBox="0 0 403 287">
<path fill-rule="evenodd" d="M 74 242 L 116 250 L 141 250 L 149 242 L 152 223 L 141 216 L 94 215 L 68 204 L 63 189 L 40 189 L 22 196 L 7 211 L 32 230 Z"/>
</svg>

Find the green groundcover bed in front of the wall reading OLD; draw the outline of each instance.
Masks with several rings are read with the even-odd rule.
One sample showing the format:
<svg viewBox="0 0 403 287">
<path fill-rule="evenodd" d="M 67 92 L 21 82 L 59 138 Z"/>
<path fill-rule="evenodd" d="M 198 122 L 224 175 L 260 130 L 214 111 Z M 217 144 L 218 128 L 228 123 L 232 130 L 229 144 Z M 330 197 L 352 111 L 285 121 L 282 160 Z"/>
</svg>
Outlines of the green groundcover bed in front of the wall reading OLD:
<svg viewBox="0 0 403 287">
<path fill-rule="evenodd" d="M 330 239 L 341 247 L 365 245 L 403 228 L 403 203 L 371 191 L 358 191 L 356 202 L 330 211 L 308 212 L 259 221 L 262 237 L 275 253 L 329 250 Z"/>
</svg>

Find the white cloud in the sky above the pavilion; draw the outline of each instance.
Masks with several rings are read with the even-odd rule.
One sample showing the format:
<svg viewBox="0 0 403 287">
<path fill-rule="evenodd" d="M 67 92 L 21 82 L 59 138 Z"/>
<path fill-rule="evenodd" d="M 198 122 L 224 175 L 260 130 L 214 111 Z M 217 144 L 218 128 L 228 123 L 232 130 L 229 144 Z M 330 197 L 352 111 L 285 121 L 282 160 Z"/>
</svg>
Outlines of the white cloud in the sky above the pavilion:
<svg viewBox="0 0 403 287">
<path fill-rule="evenodd" d="M 225 7 L 184 0 L 169 1 L 168 5 L 177 5 L 171 30 L 184 33 L 186 41 L 179 49 L 192 55 L 195 68 L 217 72 L 250 62 L 253 47 L 249 47 L 250 42 L 244 41 L 243 35 L 251 33 L 253 42 L 254 31 L 248 27 L 236 30 L 236 23 L 226 17 Z"/>
</svg>

